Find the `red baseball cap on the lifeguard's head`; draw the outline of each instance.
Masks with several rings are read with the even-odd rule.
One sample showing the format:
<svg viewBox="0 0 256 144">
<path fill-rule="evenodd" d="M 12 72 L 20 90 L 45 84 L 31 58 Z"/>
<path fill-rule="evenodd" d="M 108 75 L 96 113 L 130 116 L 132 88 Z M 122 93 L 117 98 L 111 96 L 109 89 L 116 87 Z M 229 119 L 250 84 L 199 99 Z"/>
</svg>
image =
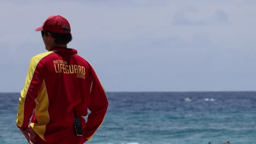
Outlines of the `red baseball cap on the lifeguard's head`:
<svg viewBox="0 0 256 144">
<path fill-rule="evenodd" d="M 69 27 L 69 30 L 63 28 L 65 26 Z M 54 32 L 54 33 L 70 33 L 71 32 L 71 28 L 68 21 L 60 15 L 52 15 L 48 17 L 48 19 L 44 21 L 43 26 L 38 27 L 36 29 L 36 31 L 43 31 L 43 30 Z"/>
</svg>

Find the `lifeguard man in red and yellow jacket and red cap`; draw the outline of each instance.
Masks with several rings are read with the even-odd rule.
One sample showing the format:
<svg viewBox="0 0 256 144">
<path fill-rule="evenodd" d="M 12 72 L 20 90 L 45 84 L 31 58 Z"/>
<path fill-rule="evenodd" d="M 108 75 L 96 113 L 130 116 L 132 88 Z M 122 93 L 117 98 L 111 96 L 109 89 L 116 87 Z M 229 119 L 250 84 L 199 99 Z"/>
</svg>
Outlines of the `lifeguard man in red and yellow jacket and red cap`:
<svg viewBox="0 0 256 144">
<path fill-rule="evenodd" d="M 48 51 L 31 59 L 16 124 L 29 143 L 86 142 L 106 115 L 106 93 L 91 65 L 67 48 L 72 35 L 64 17 L 50 16 L 36 31 Z"/>
</svg>

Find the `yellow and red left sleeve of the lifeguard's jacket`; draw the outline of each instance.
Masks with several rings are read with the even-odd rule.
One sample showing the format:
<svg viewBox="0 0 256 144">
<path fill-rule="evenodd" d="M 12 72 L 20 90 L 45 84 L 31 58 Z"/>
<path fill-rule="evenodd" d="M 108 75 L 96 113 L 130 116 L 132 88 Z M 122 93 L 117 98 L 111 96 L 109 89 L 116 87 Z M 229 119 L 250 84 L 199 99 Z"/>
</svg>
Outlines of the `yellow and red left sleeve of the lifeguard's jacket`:
<svg viewBox="0 0 256 144">
<path fill-rule="evenodd" d="M 43 82 L 42 68 L 40 59 L 36 56 L 33 57 L 28 67 L 24 89 L 20 93 L 21 97 L 19 99 L 16 119 L 16 124 L 20 129 L 28 127 L 28 123 L 30 123 L 30 118 L 36 105 L 34 99 L 37 98 L 38 91 Z"/>
</svg>

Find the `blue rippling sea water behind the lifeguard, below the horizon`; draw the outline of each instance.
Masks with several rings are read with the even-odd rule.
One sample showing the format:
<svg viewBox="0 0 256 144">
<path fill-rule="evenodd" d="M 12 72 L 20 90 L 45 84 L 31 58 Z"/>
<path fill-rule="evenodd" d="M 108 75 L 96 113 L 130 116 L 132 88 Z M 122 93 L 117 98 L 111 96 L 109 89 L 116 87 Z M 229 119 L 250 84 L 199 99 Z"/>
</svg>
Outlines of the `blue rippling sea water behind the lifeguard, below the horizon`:
<svg viewBox="0 0 256 144">
<path fill-rule="evenodd" d="M 256 143 L 256 92 L 108 92 L 99 144 Z M 19 93 L 0 93 L 0 143 L 26 143 Z"/>
</svg>

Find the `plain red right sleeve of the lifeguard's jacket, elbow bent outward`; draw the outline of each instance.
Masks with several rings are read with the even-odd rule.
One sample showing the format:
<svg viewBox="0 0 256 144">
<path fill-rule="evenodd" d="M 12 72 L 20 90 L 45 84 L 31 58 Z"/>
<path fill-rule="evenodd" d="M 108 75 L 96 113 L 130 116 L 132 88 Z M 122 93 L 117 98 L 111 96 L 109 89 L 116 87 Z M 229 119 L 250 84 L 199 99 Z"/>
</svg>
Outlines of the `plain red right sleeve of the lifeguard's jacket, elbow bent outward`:
<svg viewBox="0 0 256 144">
<path fill-rule="evenodd" d="M 107 95 L 104 91 L 101 82 L 98 80 L 98 77 L 91 67 L 91 95 L 90 95 L 90 104 L 88 109 L 91 113 L 88 116 L 88 122 L 86 123 L 84 131 L 84 142 L 91 140 L 95 131 L 100 128 L 101 124 L 104 121 L 104 117 L 108 108 Z"/>
</svg>

